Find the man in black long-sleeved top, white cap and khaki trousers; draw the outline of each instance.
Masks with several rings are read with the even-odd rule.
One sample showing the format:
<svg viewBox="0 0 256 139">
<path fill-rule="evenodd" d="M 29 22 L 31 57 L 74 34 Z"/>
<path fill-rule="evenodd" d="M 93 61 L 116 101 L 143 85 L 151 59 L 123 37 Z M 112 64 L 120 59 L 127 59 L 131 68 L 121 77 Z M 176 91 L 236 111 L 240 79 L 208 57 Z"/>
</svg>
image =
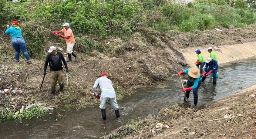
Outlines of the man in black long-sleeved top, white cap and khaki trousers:
<svg viewBox="0 0 256 139">
<path fill-rule="evenodd" d="M 61 52 L 57 52 L 54 46 L 51 46 L 48 52 L 50 52 L 50 54 L 46 56 L 46 62 L 44 63 L 44 75 L 46 75 L 46 69 L 49 63 L 51 77 L 51 93 L 53 94 L 54 98 L 57 98 L 57 95 L 55 94 L 55 86 L 57 85 L 57 82 L 60 85 L 61 94 L 63 94 L 64 92 L 64 72 L 61 61 L 63 61 L 65 65 L 66 72 L 69 72 L 69 70 L 67 62 L 65 61 L 65 58 L 63 57 L 63 54 Z"/>
</svg>

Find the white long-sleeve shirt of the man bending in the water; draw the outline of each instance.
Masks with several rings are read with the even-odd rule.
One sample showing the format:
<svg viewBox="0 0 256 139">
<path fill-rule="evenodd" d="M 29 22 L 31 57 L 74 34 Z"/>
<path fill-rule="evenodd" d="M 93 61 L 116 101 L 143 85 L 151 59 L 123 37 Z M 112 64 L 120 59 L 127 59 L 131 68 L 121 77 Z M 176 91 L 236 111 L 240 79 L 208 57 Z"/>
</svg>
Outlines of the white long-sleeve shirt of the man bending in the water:
<svg viewBox="0 0 256 139">
<path fill-rule="evenodd" d="M 98 86 L 101 89 L 102 98 L 115 98 L 115 89 L 110 79 L 108 79 L 107 77 L 100 77 L 95 81 L 92 89 L 95 95 L 98 95 L 98 92 L 97 92 Z"/>
</svg>

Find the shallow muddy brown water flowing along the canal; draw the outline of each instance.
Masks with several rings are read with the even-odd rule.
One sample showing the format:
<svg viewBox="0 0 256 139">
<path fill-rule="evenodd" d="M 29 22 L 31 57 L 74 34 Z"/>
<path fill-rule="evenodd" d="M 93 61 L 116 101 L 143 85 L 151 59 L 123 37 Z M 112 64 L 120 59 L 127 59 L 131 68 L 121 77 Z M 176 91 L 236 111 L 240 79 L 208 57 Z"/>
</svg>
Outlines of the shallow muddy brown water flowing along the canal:
<svg viewBox="0 0 256 139">
<path fill-rule="evenodd" d="M 219 68 L 217 85 L 212 85 L 212 78 L 206 78 L 206 84 L 199 88 L 198 104 L 224 98 L 256 83 L 256 59 L 232 63 Z M 184 78 L 185 79 L 185 78 Z M 102 121 L 98 106 L 79 111 L 58 111 L 47 114 L 44 118 L 33 118 L 23 122 L 6 121 L 0 124 L 0 138 L 98 138 L 111 130 L 129 122 L 132 116 L 144 117 L 149 114 L 156 116 L 158 108 L 182 102 L 181 82 L 175 76 L 164 88 L 139 88 L 134 95 L 118 101 L 121 118 L 117 120 L 115 113 L 107 105 L 107 121 Z M 191 93 L 189 100 L 193 103 Z M 58 113 L 63 118 L 57 119 Z"/>
</svg>

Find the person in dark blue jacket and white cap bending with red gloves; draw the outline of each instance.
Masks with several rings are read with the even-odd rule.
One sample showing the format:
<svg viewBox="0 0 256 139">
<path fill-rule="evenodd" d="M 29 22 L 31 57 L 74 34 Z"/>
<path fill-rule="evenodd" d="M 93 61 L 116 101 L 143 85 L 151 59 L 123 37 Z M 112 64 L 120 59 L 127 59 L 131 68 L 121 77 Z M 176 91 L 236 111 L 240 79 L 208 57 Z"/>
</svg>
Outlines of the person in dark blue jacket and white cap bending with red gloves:
<svg viewBox="0 0 256 139">
<path fill-rule="evenodd" d="M 211 73 L 213 73 L 212 78 L 213 78 L 213 85 L 216 85 L 216 74 L 218 72 L 218 61 L 208 58 L 205 64 L 205 70 L 203 71 L 202 75 L 202 82 L 205 81 L 206 76 L 209 76 Z"/>
</svg>

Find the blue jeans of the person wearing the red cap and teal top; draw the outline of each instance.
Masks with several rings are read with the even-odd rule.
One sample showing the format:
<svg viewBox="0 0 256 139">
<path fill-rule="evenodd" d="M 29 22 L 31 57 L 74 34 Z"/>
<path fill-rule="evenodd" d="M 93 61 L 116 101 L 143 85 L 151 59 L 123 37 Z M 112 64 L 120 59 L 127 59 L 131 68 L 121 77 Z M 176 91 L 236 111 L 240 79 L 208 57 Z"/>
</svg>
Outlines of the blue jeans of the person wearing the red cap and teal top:
<svg viewBox="0 0 256 139">
<path fill-rule="evenodd" d="M 26 43 L 23 38 L 13 38 L 11 39 L 11 44 L 15 49 L 15 59 L 19 60 L 20 50 L 23 52 L 27 60 L 29 60 L 28 52 L 26 48 Z"/>
</svg>

